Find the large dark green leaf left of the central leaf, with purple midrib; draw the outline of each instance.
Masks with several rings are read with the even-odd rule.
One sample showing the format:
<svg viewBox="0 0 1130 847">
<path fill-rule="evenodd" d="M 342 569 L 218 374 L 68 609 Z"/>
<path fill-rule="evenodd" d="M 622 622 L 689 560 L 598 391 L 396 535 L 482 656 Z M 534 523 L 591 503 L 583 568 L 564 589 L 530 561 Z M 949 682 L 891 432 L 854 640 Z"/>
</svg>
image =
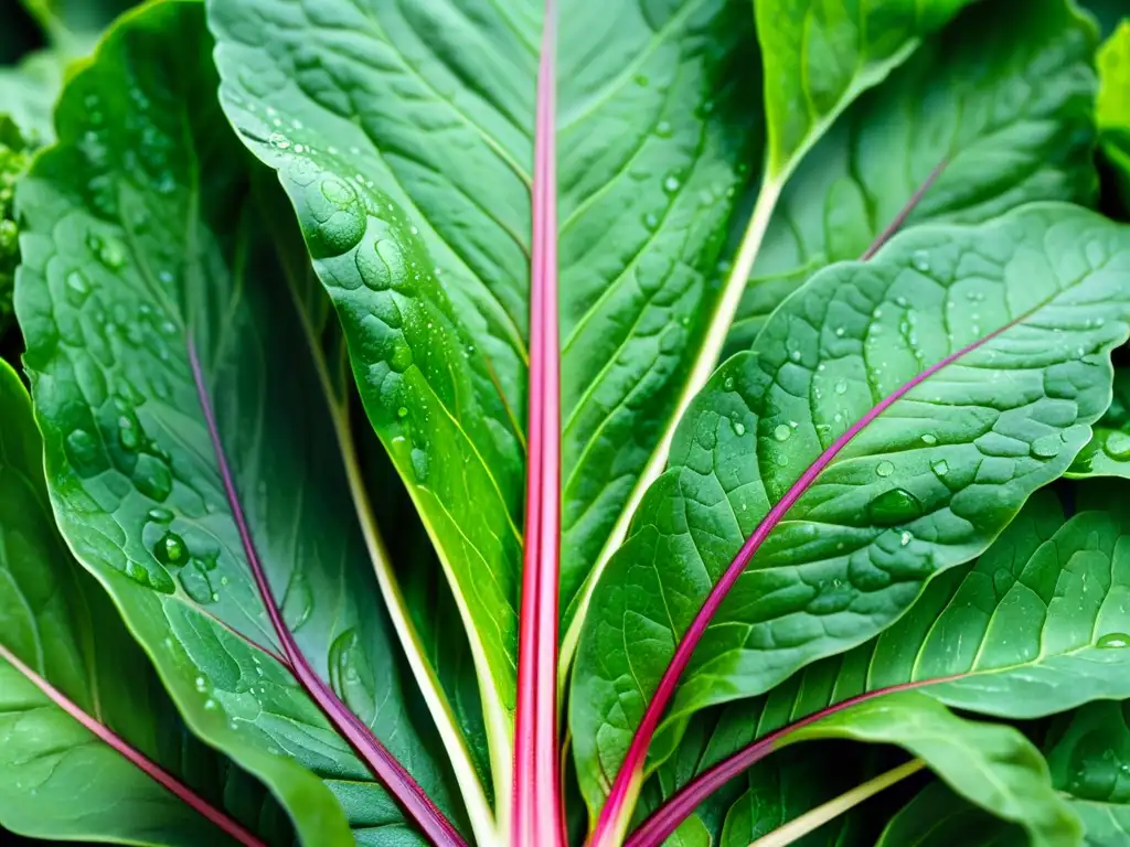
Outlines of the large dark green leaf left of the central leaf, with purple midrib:
<svg viewBox="0 0 1130 847">
<path fill-rule="evenodd" d="M 288 256 L 271 246 L 219 112 L 211 49 L 199 3 L 123 18 L 68 84 L 59 143 L 20 182 L 16 312 L 47 486 L 63 536 L 198 735 L 280 795 L 320 845 L 351 841 L 342 811 L 358 839 L 410 840 L 275 658 L 189 366 L 192 339 L 299 647 L 455 814 L 406 702 L 312 318 L 287 290 Z M 301 797 L 294 762 L 322 780 Z"/>
</svg>

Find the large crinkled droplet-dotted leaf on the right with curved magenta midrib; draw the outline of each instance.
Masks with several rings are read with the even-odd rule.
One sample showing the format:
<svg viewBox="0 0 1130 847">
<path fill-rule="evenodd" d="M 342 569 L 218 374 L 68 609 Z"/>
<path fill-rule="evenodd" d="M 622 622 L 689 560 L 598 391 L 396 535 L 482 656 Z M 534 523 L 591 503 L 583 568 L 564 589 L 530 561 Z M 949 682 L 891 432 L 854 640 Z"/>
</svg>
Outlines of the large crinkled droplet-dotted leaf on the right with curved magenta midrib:
<svg viewBox="0 0 1130 847">
<path fill-rule="evenodd" d="M 698 709 L 872 638 L 1067 470 L 1127 338 L 1128 248 L 1130 230 L 1061 204 L 919 227 L 814 277 L 719 369 L 586 621 L 570 717 L 590 806 L 677 639 L 790 490 L 699 643 L 653 763 Z"/>
</svg>

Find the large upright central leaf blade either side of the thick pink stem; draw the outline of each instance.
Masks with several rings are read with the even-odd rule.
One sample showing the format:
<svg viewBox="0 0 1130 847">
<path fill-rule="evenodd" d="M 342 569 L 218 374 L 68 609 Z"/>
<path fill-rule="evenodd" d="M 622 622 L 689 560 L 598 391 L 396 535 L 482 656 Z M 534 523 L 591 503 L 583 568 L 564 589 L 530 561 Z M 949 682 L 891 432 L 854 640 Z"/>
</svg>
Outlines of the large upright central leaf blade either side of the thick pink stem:
<svg viewBox="0 0 1130 847">
<path fill-rule="evenodd" d="M 290 194 L 440 551 L 507 794 L 539 7 L 210 6 L 225 108 Z M 560 20 L 566 617 L 702 335 L 756 157 L 751 24 L 723 0 L 586 0 Z"/>
</svg>

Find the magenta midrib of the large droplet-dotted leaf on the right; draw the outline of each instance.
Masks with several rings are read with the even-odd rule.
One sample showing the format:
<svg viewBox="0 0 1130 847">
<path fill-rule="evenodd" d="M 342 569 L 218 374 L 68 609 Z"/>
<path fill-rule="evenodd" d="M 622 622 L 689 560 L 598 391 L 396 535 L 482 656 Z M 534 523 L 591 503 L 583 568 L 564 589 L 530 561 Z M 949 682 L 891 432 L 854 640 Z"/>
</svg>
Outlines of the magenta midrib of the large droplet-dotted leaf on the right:
<svg viewBox="0 0 1130 847">
<path fill-rule="evenodd" d="M 994 339 L 1000 333 L 1011 329 L 1026 316 L 1026 314 L 1022 315 L 1015 321 L 1011 321 L 1000 329 L 989 333 L 984 338 L 977 339 L 972 344 L 963 347 L 957 352 L 947 356 L 941 361 L 918 374 L 913 379 L 903 384 L 894 393 L 889 394 L 877 405 L 872 407 L 871 410 L 860 418 L 846 433 L 836 438 L 836 440 L 833 442 L 832 445 L 825 449 L 811 465 L 809 465 L 808 470 L 800 475 L 800 479 L 792 484 L 785 495 L 777 500 L 776 505 L 770 509 L 770 513 L 757 525 L 757 529 L 754 530 L 754 534 L 750 535 L 746 540 L 746 543 L 741 545 L 741 550 L 738 551 L 733 561 L 730 562 L 729 567 L 727 567 L 721 579 L 715 583 L 711 593 L 706 597 L 706 602 L 703 603 L 702 609 L 698 610 L 694 621 L 684 634 L 683 640 L 679 641 L 679 646 L 675 649 L 671 663 L 663 673 L 663 676 L 659 682 L 659 687 L 655 689 L 655 695 L 647 704 L 643 721 L 640 722 L 640 727 L 636 730 L 635 735 L 632 739 L 632 744 L 628 748 L 627 756 L 624 758 L 624 763 L 620 766 L 620 770 L 616 775 L 616 780 L 612 783 L 612 789 L 609 792 L 605 807 L 600 812 L 600 818 L 593 832 L 593 841 L 596 844 L 606 844 L 610 839 L 611 835 L 615 833 L 617 826 L 621 824 L 619 818 L 626 811 L 627 804 L 632 801 L 634 784 L 638 780 L 643 772 L 644 758 L 647 754 L 647 746 L 651 744 L 651 739 L 655 734 L 659 721 L 663 716 L 667 705 L 675 695 L 675 689 L 679 682 L 679 678 L 683 675 L 687 664 L 690 662 L 690 656 L 694 654 L 695 647 L 697 647 L 698 641 L 702 640 L 702 637 L 706 631 L 706 627 L 718 613 L 719 606 L 721 606 L 725 595 L 730 593 L 734 583 L 738 582 L 738 578 L 749 565 L 749 561 L 754 558 L 754 553 L 757 552 L 757 549 L 762 545 L 765 539 L 768 538 L 770 533 L 773 532 L 776 525 L 784 517 L 785 513 L 792 508 L 793 504 L 800 499 L 801 495 L 803 495 L 805 491 L 811 487 L 811 484 L 816 481 L 816 478 L 819 477 L 832 460 L 836 457 L 836 454 L 846 447 L 852 438 L 868 427 L 871 421 L 901 400 L 906 392 L 916 385 L 920 385 L 925 379 L 929 379 L 944 367 L 951 365 L 963 356 L 966 356 L 982 344 Z"/>
</svg>

